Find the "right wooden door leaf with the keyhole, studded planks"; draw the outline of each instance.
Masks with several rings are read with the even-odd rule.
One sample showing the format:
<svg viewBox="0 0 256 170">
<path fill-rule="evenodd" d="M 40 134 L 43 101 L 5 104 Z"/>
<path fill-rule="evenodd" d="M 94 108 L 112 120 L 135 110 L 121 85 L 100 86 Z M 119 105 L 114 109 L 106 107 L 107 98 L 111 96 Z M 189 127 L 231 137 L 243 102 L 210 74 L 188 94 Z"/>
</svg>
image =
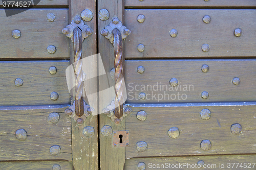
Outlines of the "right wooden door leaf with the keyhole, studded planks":
<svg viewBox="0 0 256 170">
<path fill-rule="evenodd" d="M 101 169 L 256 168 L 255 6 L 251 0 L 98 3 L 101 14 L 109 12 L 98 32 L 114 17 L 131 30 L 123 56 L 132 112 L 119 125 L 109 113 L 100 115 Z M 111 72 L 114 47 L 98 39 Z M 124 147 L 113 140 L 119 131 L 129 133 Z"/>
</svg>

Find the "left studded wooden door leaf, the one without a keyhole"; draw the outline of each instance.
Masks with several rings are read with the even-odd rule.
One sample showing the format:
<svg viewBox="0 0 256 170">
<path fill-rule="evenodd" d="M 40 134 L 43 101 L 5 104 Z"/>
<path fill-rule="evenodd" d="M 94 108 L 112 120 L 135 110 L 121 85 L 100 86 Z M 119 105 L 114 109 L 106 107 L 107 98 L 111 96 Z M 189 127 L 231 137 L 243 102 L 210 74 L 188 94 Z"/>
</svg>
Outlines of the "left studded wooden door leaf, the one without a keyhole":
<svg viewBox="0 0 256 170">
<path fill-rule="evenodd" d="M 0 169 L 98 169 L 97 116 L 78 126 L 65 113 L 73 103 L 66 69 L 74 52 L 61 32 L 90 10 L 91 20 L 81 22 L 94 32 L 82 43 L 83 56 L 96 54 L 95 1 L 41 0 L 8 17 L 0 5 Z M 89 126 L 90 138 L 83 135 Z"/>
</svg>

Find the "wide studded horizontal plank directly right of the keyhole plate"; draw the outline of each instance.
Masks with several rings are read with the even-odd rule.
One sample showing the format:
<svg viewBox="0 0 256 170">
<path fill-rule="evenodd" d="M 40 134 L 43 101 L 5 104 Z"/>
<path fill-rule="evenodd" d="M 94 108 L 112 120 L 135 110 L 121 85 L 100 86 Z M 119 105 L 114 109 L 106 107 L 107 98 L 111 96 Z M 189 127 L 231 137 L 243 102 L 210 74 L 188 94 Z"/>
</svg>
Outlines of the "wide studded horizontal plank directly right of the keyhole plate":
<svg viewBox="0 0 256 170">
<path fill-rule="evenodd" d="M 226 106 L 225 106 L 226 105 Z M 133 107 L 136 106 L 136 107 Z M 125 148 L 125 158 L 255 154 L 255 102 L 209 104 L 130 104 L 133 112 L 125 117 L 125 130 L 130 131 L 130 147 Z M 209 109 L 211 117 L 203 120 L 200 112 Z M 146 120 L 137 119 L 138 111 L 146 112 Z M 239 135 L 231 133 L 231 126 L 240 124 Z M 177 127 L 180 135 L 170 138 L 167 131 Z M 200 148 L 202 140 L 211 142 L 210 150 Z M 138 152 L 136 143 L 145 141 L 147 150 Z"/>
</svg>

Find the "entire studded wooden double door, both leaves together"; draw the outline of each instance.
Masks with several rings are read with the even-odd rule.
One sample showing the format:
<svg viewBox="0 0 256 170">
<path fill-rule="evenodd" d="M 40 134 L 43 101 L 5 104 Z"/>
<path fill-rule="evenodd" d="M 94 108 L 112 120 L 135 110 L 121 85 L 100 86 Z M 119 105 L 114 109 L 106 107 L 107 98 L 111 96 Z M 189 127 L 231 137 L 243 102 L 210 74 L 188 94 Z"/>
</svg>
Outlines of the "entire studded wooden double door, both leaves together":
<svg viewBox="0 0 256 170">
<path fill-rule="evenodd" d="M 41 0 L 8 17 L 0 10 L 0 169 L 255 169 L 255 7 Z M 93 30 L 83 58 L 100 54 L 91 67 L 102 62 L 108 75 L 97 78 L 98 91 L 115 85 L 114 46 L 103 29 L 117 17 L 131 30 L 122 39 L 121 119 L 104 112 L 79 126 L 66 111 L 74 51 L 61 30 L 77 15 Z M 98 108 L 113 98 L 98 97 Z"/>
</svg>

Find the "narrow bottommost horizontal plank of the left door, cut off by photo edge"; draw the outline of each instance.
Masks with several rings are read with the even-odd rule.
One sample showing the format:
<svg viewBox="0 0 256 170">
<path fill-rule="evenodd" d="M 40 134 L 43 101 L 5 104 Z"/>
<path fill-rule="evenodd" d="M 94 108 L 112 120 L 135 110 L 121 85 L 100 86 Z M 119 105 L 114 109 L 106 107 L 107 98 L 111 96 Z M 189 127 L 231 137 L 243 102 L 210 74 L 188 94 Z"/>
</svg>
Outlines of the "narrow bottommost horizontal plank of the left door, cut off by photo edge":
<svg viewBox="0 0 256 170">
<path fill-rule="evenodd" d="M 61 170 L 71 170 L 72 162 L 69 161 L 11 161 L 0 162 L 0 168 L 6 170 L 49 170 L 58 164 Z"/>
</svg>

